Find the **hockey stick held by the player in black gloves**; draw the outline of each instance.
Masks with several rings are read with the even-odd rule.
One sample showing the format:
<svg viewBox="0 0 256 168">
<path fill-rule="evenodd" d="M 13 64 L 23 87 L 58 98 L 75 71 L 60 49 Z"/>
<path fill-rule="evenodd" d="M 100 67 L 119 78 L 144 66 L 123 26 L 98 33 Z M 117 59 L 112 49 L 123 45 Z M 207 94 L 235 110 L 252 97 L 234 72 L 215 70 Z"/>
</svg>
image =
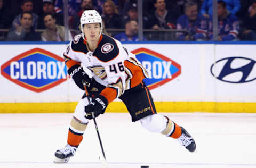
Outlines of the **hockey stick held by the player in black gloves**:
<svg viewBox="0 0 256 168">
<path fill-rule="evenodd" d="M 86 95 L 86 97 L 87 97 L 88 103 L 90 104 L 90 103 L 91 103 L 91 100 L 90 100 L 90 98 L 89 98 L 89 92 L 88 92 L 88 90 L 87 90 L 86 81 L 85 81 L 85 80 L 82 80 L 82 83 L 83 83 L 83 86 L 84 86 L 85 95 Z M 105 167 L 107 167 L 106 156 L 105 156 L 105 152 L 104 152 L 104 149 L 103 149 L 103 146 L 102 146 L 102 142 L 101 142 L 101 139 L 100 139 L 100 133 L 99 133 L 98 125 L 97 125 L 97 123 L 96 123 L 96 119 L 95 119 L 95 116 L 94 116 L 94 112 L 92 112 L 91 114 L 92 114 L 92 119 L 93 119 L 93 122 L 94 122 L 94 125 L 95 125 L 95 129 L 96 129 L 96 132 L 97 132 L 99 141 L 100 141 L 101 152 L 102 152 L 102 155 L 103 155 L 103 157 L 104 157 L 103 160 L 100 159 L 100 162 L 101 162 Z"/>
</svg>

